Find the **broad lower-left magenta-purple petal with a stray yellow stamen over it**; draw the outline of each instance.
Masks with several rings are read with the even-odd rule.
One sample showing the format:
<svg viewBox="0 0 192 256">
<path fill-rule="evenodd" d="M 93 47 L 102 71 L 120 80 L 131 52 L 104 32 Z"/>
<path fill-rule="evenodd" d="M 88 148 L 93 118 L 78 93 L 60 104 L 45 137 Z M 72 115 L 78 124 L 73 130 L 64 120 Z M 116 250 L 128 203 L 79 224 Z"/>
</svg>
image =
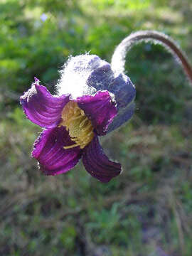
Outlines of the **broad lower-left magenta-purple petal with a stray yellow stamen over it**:
<svg viewBox="0 0 192 256">
<path fill-rule="evenodd" d="M 46 175 L 63 174 L 72 169 L 81 157 L 80 148 L 63 149 L 74 144 L 65 127 L 45 129 L 34 143 L 32 156 Z"/>
</svg>

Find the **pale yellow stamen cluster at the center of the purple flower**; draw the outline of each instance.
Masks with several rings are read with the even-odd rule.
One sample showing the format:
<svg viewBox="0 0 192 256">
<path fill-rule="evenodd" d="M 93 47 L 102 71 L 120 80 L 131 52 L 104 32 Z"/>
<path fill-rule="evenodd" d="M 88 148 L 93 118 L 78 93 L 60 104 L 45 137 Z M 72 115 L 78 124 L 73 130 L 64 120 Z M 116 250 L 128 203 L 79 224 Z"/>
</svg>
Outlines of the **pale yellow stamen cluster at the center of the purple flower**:
<svg viewBox="0 0 192 256">
<path fill-rule="evenodd" d="M 64 146 L 64 149 L 71 149 L 80 146 L 83 149 L 89 144 L 93 137 L 93 127 L 91 121 L 86 117 L 85 112 L 80 110 L 76 102 L 68 102 L 62 111 L 62 121 L 59 126 L 65 126 L 69 132 L 70 139 L 75 144 Z"/>
</svg>

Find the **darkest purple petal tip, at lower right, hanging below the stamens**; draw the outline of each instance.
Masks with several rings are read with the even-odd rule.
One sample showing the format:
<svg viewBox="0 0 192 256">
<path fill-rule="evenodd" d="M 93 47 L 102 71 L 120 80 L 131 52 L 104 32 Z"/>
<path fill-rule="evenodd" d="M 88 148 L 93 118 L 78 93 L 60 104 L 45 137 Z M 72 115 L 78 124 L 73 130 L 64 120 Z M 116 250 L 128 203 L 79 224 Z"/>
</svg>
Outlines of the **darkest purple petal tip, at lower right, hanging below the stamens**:
<svg viewBox="0 0 192 256">
<path fill-rule="evenodd" d="M 82 162 L 88 173 L 101 182 L 109 182 L 122 171 L 121 164 L 110 161 L 105 155 L 97 136 L 83 150 Z"/>
</svg>

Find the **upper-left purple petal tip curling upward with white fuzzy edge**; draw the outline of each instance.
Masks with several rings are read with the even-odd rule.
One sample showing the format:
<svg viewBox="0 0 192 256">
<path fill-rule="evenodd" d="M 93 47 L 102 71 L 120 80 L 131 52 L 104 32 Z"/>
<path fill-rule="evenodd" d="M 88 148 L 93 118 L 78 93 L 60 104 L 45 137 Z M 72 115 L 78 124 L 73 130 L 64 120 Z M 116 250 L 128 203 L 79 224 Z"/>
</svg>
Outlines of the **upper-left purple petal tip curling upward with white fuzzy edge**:
<svg viewBox="0 0 192 256">
<path fill-rule="evenodd" d="M 36 78 L 31 88 L 20 98 L 26 117 L 41 127 L 52 128 L 60 122 L 63 107 L 69 95 L 54 97 Z"/>
</svg>

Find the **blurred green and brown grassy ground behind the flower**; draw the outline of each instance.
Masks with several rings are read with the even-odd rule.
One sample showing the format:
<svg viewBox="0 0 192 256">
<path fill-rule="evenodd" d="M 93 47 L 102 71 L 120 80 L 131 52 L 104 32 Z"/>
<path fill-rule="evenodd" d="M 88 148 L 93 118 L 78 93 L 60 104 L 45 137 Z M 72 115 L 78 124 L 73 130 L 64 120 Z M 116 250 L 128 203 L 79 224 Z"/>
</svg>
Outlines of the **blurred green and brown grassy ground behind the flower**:
<svg viewBox="0 0 192 256">
<path fill-rule="evenodd" d="M 137 107 L 102 139 L 124 166 L 110 183 L 82 164 L 43 176 L 31 159 L 41 129 L 18 100 L 34 76 L 54 92 L 68 55 L 110 62 L 132 31 L 167 33 L 192 61 L 191 24 L 191 0 L 0 1 L 0 255 L 191 256 L 192 90 L 162 46 L 127 56 Z"/>
</svg>

